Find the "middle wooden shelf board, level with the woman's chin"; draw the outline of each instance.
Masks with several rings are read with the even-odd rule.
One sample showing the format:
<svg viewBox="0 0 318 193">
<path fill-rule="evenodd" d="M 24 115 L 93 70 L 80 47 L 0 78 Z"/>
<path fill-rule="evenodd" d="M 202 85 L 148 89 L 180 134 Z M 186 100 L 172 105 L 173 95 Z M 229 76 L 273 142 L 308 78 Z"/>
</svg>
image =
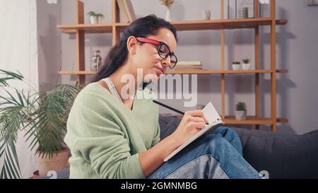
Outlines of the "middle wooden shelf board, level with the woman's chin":
<svg viewBox="0 0 318 193">
<path fill-rule="evenodd" d="M 93 75 L 97 71 L 59 71 L 63 75 Z M 249 70 L 249 71 L 233 71 L 233 70 L 176 70 L 166 71 L 165 74 L 266 74 L 272 73 L 272 70 Z M 288 73 L 288 70 L 276 70 L 276 73 Z"/>
</svg>

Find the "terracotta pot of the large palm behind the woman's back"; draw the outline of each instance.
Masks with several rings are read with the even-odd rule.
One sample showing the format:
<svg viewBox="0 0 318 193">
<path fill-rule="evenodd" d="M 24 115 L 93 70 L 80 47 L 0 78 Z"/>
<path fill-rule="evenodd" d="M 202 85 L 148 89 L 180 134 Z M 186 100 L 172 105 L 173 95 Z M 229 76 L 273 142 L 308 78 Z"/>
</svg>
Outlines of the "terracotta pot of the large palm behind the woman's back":
<svg viewBox="0 0 318 193">
<path fill-rule="evenodd" d="M 52 158 L 37 153 L 37 162 L 39 167 L 39 175 L 47 175 L 50 170 L 61 170 L 69 166 L 69 148 L 64 148 L 63 151 L 54 153 Z"/>
</svg>

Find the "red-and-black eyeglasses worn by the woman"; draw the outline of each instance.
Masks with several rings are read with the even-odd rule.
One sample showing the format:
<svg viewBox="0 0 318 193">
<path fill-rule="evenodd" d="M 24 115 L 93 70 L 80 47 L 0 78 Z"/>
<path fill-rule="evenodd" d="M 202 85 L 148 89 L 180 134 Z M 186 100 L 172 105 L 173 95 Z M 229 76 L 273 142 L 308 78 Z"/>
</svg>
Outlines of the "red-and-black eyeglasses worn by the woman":
<svg viewBox="0 0 318 193">
<path fill-rule="evenodd" d="M 147 37 L 136 37 L 136 39 L 139 42 L 145 42 L 145 43 L 150 43 L 153 45 L 158 46 L 158 54 L 162 59 L 167 59 L 167 57 L 170 57 L 170 65 L 169 68 L 173 69 L 175 68 L 175 65 L 178 62 L 177 57 L 173 52 L 170 52 L 169 46 L 167 46 L 164 42 L 160 42 L 158 40 L 153 40 Z"/>
</svg>

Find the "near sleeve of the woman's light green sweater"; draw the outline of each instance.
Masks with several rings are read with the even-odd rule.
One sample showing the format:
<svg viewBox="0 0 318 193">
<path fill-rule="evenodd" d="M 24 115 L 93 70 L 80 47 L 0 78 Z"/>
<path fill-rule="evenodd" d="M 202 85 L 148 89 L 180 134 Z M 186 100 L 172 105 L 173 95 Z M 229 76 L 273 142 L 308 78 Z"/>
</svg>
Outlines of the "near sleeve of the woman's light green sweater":
<svg viewBox="0 0 318 193">
<path fill-rule="evenodd" d="M 90 163 L 102 178 L 145 178 L 139 153 L 131 155 L 129 139 L 116 123 L 119 118 L 99 96 L 94 96 L 94 103 L 91 100 L 92 96 L 81 96 L 72 107 L 68 129 L 81 133 L 71 136 L 73 153 Z"/>
</svg>

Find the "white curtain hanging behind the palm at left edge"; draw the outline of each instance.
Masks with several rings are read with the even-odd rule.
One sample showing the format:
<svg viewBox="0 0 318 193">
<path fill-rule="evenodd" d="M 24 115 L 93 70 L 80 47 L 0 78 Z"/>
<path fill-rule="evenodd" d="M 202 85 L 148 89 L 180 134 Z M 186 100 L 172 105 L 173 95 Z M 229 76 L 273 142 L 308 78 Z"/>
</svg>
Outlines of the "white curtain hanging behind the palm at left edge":
<svg viewBox="0 0 318 193">
<path fill-rule="evenodd" d="M 32 84 L 11 86 L 33 90 L 38 88 L 37 6 L 35 0 L 0 0 L 0 69 L 19 71 Z M 4 93 L 0 93 L 3 95 Z M 30 152 L 20 134 L 16 144 L 20 170 L 28 178 L 37 170 L 35 153 Z M 3 160 L 0 160 L 2 165 Z"/>
</svg>

